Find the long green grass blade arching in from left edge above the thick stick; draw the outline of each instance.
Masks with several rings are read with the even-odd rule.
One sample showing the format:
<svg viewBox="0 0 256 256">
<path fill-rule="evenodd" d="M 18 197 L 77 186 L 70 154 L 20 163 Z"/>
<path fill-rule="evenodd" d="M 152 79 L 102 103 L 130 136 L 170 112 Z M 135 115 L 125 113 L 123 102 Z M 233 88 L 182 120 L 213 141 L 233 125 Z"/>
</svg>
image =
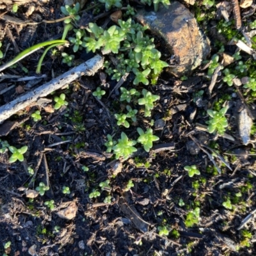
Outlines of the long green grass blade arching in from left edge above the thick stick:
<svg viewBox="0 0 256 256">
<path fill-rule="evenodd" d="M 46 41 L 46 42 L 42 42 L 40 44 L 36 44 L 33 45 L 31 47 L 29 47 L 28 49 L 20 52 L 15 58 L 13 58 L 12 60 L 8 61 L 7 63 L 5 63 L 4 65 L 0 66 L 0 72 L 3 71 L 4 69 L 12 66 L 13 64 L 17 63 L 18 61 L 26 58 L 26 56 L 29 56 L 31 53 L 41 49 L 42 47 L 45 47 L 47 45 L 51 45 L 51 44 L 68 44 L 68 41 L 66 40 L 52 40 L 52 41 Z"/>
</svg>

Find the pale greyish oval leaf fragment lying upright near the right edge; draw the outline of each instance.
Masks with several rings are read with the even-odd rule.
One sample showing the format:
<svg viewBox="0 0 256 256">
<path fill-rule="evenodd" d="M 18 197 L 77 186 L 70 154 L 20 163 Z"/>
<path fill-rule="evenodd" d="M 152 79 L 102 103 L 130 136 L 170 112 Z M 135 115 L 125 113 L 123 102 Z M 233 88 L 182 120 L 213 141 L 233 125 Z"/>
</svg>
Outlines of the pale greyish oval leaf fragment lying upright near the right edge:
<svg viewBox="0 0 256 256">
<path fill-rule="evenodd" d="M 248 115 L 246 108 L 238 114 L 238 131 L 244 145 L 250 141 L 250 132 L 252 129 L 252 118 Z"/>
</svg>

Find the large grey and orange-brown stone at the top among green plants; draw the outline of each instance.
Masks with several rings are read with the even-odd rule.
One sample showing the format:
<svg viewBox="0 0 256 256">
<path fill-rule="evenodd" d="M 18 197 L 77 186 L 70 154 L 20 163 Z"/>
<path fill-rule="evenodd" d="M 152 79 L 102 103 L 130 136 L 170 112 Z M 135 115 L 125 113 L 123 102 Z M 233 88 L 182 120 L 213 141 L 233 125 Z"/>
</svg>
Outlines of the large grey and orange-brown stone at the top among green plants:
<svg viewBox="0 0 256 256">
<path fill-rule="evenodd" d="M 179 2 L 172 2 L 168 8 L 159 6 L 157 13 L 140 10 L 136 19 L 163 38 L 174 56 L 169 71 L 176 77 L 191 74 L 211 51 L 209 39 L 198 28 L 196 19 Z"/>
</svg>

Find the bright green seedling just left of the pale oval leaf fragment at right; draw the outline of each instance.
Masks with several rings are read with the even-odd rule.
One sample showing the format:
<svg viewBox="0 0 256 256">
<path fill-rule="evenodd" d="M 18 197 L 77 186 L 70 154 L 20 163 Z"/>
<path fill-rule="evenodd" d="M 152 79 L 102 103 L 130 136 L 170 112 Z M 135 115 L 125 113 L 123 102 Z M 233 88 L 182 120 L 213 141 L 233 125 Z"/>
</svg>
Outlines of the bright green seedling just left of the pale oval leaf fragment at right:
<svg viewBox="0 0 256 256">
<path fill-rule="evenodd" d="M 222 108 L 220 111 L 213 111 L 211 109 L 207 110 L 208 115 L 211 117 L 209 121 L 206 122 L 208 124 L 208 131 L 210 133 L 218 132 L 220 135 L 223 135 L 225 132 L 225 128 L 228 127 L 227 118 L 225 118 L 225 113 L 228 108 Z"/>
</svg>

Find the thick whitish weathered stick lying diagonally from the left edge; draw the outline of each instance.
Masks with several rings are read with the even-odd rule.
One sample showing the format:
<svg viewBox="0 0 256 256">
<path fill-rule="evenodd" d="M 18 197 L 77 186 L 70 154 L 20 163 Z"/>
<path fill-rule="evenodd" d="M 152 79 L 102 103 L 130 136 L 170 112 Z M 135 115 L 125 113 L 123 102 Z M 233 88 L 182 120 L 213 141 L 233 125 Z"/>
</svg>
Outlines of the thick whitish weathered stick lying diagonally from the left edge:
<svg viewBox="0 0 256 256">
<path fill-rule="evenodd" d="M 72 68 L 68 72 L 62 74 L 59 77 L 56 77 L 49 81 L 48 83 L 31 90 L 30 92 L 20 96 L 19 98 L 5 104 L 0 107 L 0 124 L 17 113 L 21 109 L 26 108 L 33 102 L 36 102 L 41 97 L 45 97 L 50 93 L 54 92 L 65 86 L 65 84 L 70 84 L 72 81 L 76 80 L 81 76 L 93 76 L 95 72 L 103 66 L 104 58 L 99 55 L 96 55 L 92 59 L 84 62 L 83 64 Z"/>
</svg>

